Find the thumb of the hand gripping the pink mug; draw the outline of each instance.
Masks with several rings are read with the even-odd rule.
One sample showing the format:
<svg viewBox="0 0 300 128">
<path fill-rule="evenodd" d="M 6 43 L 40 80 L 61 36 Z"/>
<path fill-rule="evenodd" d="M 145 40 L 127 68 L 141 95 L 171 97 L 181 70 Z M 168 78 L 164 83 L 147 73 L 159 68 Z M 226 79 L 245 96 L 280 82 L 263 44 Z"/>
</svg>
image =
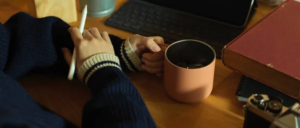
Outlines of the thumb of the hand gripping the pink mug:
<svg viewBox="0 0 300 128">
<path fill-rule="evenodd" d="M 163 39 L 161 37 L 154 36 L 148 37 L 146 41 L 143 41 L 143 45 L 152 52 L 159 52 L 161 50 L 157 43 L 163 43 Z"/>
</svg>

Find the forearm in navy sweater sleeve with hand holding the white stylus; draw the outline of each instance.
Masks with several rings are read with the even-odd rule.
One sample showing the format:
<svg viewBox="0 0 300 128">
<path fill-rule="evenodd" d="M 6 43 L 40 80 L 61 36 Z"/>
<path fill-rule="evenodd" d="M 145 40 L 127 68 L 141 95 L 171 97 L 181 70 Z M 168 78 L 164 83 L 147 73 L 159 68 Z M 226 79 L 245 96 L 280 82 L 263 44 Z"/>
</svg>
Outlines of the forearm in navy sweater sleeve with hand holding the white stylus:
<svg viewBox="0 0 300 128">
<path fill-rule="evenodd" d="M 82 128 L 155 128 L 140 94 L 122 72 L 107 32 L 68 29 L 76 53 L 78 79 L 87 85 L 92 99 L 82 114 Z M 72 55 L 63 48 L 68 65 Z"/>
</svg>

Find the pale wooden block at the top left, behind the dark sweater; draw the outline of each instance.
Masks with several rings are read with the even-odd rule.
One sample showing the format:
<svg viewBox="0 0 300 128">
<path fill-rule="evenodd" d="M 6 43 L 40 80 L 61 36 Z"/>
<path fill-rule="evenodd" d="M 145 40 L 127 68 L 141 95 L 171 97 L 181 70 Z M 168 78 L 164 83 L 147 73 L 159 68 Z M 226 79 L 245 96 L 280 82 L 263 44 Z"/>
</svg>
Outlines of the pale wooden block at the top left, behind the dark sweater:
<svg viewBox="0 0 300 128">
<path fill-rule="evenodd" d="M 28 0 L 28 9 L 38 18 L 56 16 L 67 23 L 77 20 L 75 0 Z"/>
</svg>

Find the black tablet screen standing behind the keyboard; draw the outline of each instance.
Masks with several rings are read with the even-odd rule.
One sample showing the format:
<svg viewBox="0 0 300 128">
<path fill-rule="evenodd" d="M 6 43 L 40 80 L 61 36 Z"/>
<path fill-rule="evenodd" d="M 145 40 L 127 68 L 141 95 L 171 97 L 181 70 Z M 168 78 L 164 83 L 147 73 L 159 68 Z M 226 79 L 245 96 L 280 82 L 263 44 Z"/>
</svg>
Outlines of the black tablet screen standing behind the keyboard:
<svg viewBox="0 0 300 128">
<path fill-rule="evenodd" d="M 254 0 L 142 0 L 179 11 L 244 25 Z"/>
</svg>

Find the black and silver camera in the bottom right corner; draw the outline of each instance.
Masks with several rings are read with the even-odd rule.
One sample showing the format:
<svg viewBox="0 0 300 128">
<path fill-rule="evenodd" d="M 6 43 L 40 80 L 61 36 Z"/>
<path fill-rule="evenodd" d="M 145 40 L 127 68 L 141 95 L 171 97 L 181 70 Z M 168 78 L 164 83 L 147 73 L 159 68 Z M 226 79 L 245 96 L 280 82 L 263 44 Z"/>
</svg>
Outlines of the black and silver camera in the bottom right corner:
<svg viewBox="0 0 300 128">
<path fill-rule="evenodd" d="M 243 128 L 300 128 L 300 105 L 287 108 L 278 97 L 253 94 L 243 107 Z"/>
</svg>

